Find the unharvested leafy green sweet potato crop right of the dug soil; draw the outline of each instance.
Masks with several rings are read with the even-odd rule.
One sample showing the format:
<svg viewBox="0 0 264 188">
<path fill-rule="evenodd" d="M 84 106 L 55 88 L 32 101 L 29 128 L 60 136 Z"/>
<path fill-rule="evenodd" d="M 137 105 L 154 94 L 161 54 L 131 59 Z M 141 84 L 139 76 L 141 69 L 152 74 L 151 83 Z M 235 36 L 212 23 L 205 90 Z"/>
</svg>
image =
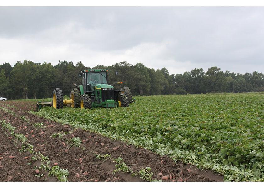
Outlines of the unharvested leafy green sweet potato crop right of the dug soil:
<svg viewBox="0 0 264 188">
<path fill-rule="evenodd" d="M 264 95 L 136 97 L 128 108 L 46 107 L 39 116 L 142 146 L 226 181 L 264 180 Z"/>
</svg>

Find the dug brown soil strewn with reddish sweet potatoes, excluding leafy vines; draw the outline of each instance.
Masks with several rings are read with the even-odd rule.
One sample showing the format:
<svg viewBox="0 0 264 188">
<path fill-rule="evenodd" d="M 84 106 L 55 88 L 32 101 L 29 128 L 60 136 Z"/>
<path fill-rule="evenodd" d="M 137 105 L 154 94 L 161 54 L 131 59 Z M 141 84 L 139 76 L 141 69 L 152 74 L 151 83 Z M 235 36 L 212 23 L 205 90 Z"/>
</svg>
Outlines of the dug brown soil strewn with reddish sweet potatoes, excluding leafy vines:
<svg viewBox="0 0 264 188">
<path fill-rule="evenodd" d="M 28 143 L 34 147 L 34 151 L 40 151 L 44 156 L 48 156 L 52 165 L 58 163 L 60 168 L 67 169 L 69 171 L 68 181 L 145 181 L 139 176 L 132 176 L 131 173 L 113 174 L 116 169 L 115 164 L 109 160 L 97 159 L 96 154 L 110 154 L 113 158 L 120 156 L 133 172 L 150 167 L 153 173 L 152 179 L 162 181 L 223 180 L 222 176 L 210 170 L 201 171 L 196 167 L 189 168 L 188 164 L 182 164 L 180 161 L 175 163 L 166 156 L 159 156 L 146 149 L 110 140 L 82 129 L 73 129 L 69 125 L 49 122 L 27 113 L 28 110 L 36 108 L 34 101 L 6 101 L 1 102 L 0 107 L 15 112 L 12 115 L 0 108 L 0 120 L 15 127 L 15 133 L 23 134 L 28 139 Z M 36 126 L 36 123 L 41 123 L 41 126 Z M 58 136 L 52 137 L 52 134 L 62 131 L 70 133 L 62 139 Z M 81 147 L 71 147 L 70 143 L 67 143 L 67 140 L 73 137 L 79 137 L 82 140 Z M 43 176 L 34 176 L 37 175 L 34 171 L 35 166 L 40 166 L 41 161 L 31 159 L 35 154 L 30 154 L 28 151 L 19 152 L 21 143 L 17 142 L 16 138 L 10 136 L 10 133 L 2 127 L 0 139 L 0 181 L 57 180 L 56 177 L 49 177 L 48 172 L 44 170 L 39 172 L 39 174 L 43 173 Z M 24 159 L 25 157 L 29 158 Z M 27 165 L 28 163 L 32 165 Z M 159 173 L 162 175 L 158 175 Z"/>
</svg>

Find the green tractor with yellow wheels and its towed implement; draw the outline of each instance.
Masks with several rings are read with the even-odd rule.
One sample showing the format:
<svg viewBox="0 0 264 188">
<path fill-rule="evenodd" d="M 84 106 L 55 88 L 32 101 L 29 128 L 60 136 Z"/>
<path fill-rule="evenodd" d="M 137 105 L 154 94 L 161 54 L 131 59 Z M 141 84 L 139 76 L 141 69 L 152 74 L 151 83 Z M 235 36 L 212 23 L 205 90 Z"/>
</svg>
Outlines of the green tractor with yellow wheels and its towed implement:
<svg viewBox="0 0 264 188">
<path fill-rule="evenodd" d="M 135 102 L 129 87 L 114 90 L 114 87 L 108 84 L 107 73 L 108 70 L 104 69 L 83 70 L 79 74 L 82 77 L 82 85 L 75 84 L 70 93 L 70 100 L 63 100 L 62 89 L 56 88 L 53 91 L 51 106 L 56 109 L 63 108 L 63 105 L 73 108 L 115 108 L 128 107 L 130 103 Z"/>
</svg>

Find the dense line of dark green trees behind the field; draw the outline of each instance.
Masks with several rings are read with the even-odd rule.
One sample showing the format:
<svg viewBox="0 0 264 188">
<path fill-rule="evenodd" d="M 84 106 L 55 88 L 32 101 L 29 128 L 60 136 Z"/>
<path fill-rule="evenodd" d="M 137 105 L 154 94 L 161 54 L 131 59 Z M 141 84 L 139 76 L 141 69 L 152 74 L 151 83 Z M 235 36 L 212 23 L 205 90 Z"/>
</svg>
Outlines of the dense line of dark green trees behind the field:
<svg viewBox="0 0 264 188">
<path fill-rule="evenodd" d="M 233 89 L 236 93 L 264 91 L 264 75 L 256 71 L 239 74 L 211 67 L 206 72 L 195 68 L 183 74 L 169 74 L 166 68 L 154 70 L 142 63 L 131 65 L 121 62 L 107 67 L 85 67 L 81 61 L 76 65 L 59 61 L 53 66 L 46 62 L 24 60 L 18 61 L 14 67 L 9 63 L 0 65 L 0 95 L 8 99 L 47 98 L 52 97 L 53 89 L 59 87 L 64 95 L 69 96 L 73 84 L 81 84 L 78 73 L 90 68 L 108 69 L 109 84 L 119 89 L 122 85 L 115 82 L 123 82 L 123 86 L 130 87 L 133 95 L 200 94 L 233 92 Z"/>
</svg>

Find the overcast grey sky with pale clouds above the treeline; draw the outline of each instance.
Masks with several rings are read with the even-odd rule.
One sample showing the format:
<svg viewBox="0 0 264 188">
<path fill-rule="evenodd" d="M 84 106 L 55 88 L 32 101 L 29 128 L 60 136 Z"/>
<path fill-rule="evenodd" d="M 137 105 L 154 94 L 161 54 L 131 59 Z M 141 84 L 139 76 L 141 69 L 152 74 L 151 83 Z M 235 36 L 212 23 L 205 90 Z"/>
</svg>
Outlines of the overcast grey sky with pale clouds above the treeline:
<svg viewBox="0 0 264 188">
<path fill-rule="evenodd" d="M 0 7 L 0 64 L 264 71 L 264 7 Z"/>
</svg>

